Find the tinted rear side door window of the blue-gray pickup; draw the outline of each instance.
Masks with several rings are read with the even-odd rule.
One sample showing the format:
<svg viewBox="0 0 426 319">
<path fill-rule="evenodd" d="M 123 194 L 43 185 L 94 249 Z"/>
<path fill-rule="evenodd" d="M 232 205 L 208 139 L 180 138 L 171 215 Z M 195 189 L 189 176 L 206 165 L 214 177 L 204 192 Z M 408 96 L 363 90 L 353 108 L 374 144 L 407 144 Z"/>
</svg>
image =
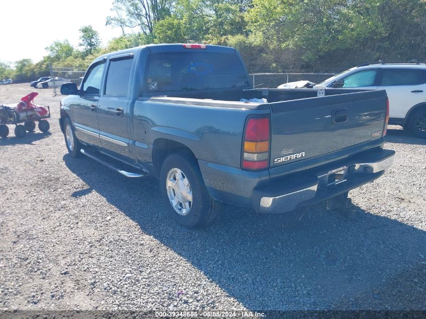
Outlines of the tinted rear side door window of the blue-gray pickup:
<svg viewBox="0 0 426 319">
<path fill-rule="evenodd" d="M 105 83 L 105 95 L 127 96 L 129 91 L 132 58 L 111 60 Z"/>
</svg>

